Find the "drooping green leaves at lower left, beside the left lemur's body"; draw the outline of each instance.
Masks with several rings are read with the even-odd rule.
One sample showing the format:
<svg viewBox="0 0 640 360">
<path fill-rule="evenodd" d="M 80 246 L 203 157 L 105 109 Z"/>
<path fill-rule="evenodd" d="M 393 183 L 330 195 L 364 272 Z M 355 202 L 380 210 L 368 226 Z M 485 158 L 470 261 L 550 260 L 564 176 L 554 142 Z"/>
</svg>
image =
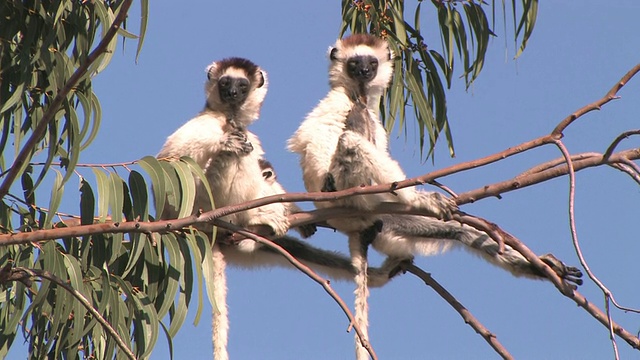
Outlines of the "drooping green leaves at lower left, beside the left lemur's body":
<svg viewBox="0 0 640 360">
<path fill-rule="evenodd" d="M 131 169 L 135 166 L 152 179 L 153 194 L 163 200 L 151 201 L 147 180 L 143 173 Z M 193 206 L 194 179 L 204 177 L 189 158 L 159 161 L 147 156 L 123 168 L 128 173 L 126 177 L 115 170 L 92 167 L 89 174 L 93 174 L 93 186 L 80 178 L 80 216 L 58 222 L 50 220 L 55 214 L 49 209 L 33 206 L 33 181 L 27 172 L 22 184 L 29 200 L 21 199 L 11 207 L 3 202 L 0 226 L 10 230 L 12 223 L 20 223 L 22 227 L 16 230 L 35 231 L 106 221 L 146 222 L 154 220 L 150 209 L 160 217 L 165 205 L 182 209 L 179 216 L 184 217 Z M 54 187 L 61 179 L 58 174 Z M 52 199 L 61 196 L 60 192 Z M 194 303 L 194 286 L 199 294 L 196 322 L 201 315 L 203 294 L 207 292 L 212 299 L 212 259 L 206 256 L 211 252 L 211 236 L 189 228 L 0 246 L 0 268 L 38 269 L 55 275 L 87 299 L 125 343 L 132 344 L 136 357 L 144 358 L 153 350 L 160 329 L 171 347 L 171 339 Z M 206 291 L 202 288 L 203 279 L 207 280 Z M 6 355 L 20 336 L 27 340 L 29 355 L 34 358 L 117 356 L 114 340 L 71 293 L 49 280 L 35 280 L 0 285 L 0 356 Z"/>
</svg>

